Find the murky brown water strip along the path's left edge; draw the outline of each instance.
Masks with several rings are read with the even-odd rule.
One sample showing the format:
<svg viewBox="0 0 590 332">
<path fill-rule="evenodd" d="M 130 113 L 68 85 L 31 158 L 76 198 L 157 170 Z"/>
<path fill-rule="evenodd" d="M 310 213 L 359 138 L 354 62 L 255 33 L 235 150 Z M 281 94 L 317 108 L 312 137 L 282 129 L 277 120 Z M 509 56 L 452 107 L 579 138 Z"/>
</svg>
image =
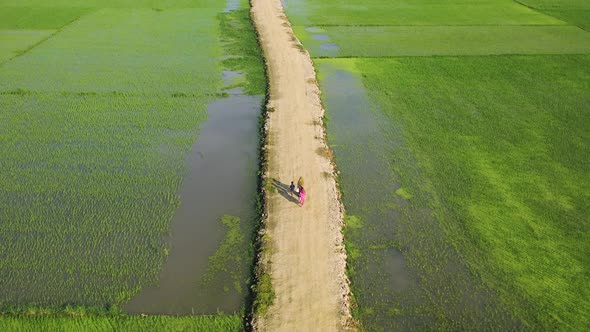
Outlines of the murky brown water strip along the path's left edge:
<svg viewBox="0 0 590 332">
<path fill-rule="evenodd" d="M 235 73 L 224 72 L 230 82 Z M 143 289 L 125 310 L 131 314 L 214 314 L 237 312 L 245 299 L 249 268 L 228 266 L 231 277 L 211 274 L 209 258 L 228 231 L 224 215 L 240 218 L 247 260 L 255 218 L 258 116 L 262 96 L 230 95 L 208 107 L 189 157 L 182 205 L 172 220 L 170 254 L 159 285 Z M 222 262 L 223 263 L 223 262 Z M 233 269 L 233 270 L 232 270 Z M 228 272 L 228 273 L 230 273 Z M 206 280 L 207 275 L 214 278 Z M 235 285 L 235 281 L 239 280 Z"/>
</svg>

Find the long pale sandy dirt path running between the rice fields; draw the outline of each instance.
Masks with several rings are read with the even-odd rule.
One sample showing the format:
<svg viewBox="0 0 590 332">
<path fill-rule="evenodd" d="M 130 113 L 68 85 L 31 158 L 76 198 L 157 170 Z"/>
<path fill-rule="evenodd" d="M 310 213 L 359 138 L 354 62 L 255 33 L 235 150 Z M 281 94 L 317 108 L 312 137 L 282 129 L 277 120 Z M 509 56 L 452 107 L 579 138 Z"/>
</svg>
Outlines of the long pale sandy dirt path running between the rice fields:
<svg viewBox="0 0 590 332">
<path fill-rule="evenodd" d="M 252 16 L 270 79 L 267 147 L 267 234 L 276 294 L 256 323 L 260 331 L 341 331 L 348 321 L 342 209 L 327 157 L 322 109 L 309 54 L 293 35 L 280 0 L 252 0 Z M 307 201 L 288 195 L 291 181 L 305 180 Z"/>
</svg>

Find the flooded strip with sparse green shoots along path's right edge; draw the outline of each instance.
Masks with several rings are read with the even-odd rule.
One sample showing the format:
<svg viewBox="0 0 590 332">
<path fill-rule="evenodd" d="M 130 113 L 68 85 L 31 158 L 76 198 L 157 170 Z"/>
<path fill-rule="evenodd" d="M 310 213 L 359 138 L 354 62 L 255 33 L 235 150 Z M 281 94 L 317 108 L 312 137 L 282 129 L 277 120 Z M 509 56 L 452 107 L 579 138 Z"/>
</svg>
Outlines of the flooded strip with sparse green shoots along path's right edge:
<svg viewBox="0 0 590 332">
<path fill-rule="evenodd" d="M 356 218 L 346 235 L 356 251 L 351 281 L 367 330 L 513 328 L 432 211 L 415 202 L 419 193 L 400 187 L 393 153 L 403 150 L 400 125 L 369 100 L 360 75 L 329 61 L 318 61 L 318 71 L 344 205 Z"/>
</svg>

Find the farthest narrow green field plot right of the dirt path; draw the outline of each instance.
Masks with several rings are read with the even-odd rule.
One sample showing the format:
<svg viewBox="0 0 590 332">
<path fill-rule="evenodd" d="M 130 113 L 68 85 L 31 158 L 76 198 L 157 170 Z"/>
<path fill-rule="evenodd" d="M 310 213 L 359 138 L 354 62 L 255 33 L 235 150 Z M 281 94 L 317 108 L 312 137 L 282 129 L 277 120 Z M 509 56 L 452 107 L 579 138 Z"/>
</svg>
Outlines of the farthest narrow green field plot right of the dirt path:
<svg viewBox="0 0 590 332">
<path fill-rule="evenodd" d="M 293 25 L 562 25 L 554 17 L 513 1 L 457 4 L 448 1 L 384 2 L 379 0 L 320 3 L 288 1 Z"/>
</svg>

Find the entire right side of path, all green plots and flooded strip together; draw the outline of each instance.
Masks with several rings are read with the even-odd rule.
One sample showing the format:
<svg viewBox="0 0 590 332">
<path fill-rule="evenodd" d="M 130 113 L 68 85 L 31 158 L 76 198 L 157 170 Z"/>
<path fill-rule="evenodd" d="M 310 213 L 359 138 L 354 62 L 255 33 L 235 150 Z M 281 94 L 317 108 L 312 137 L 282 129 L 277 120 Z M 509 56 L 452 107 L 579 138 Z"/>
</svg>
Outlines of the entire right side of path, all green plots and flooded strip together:
<svg viewBox="0 0 590 332">
<path fill-rule="evenodd" d="M 587 330 L 588 5 L 286 3 L 318 70 L 361 328 Z"/>
</svg>

